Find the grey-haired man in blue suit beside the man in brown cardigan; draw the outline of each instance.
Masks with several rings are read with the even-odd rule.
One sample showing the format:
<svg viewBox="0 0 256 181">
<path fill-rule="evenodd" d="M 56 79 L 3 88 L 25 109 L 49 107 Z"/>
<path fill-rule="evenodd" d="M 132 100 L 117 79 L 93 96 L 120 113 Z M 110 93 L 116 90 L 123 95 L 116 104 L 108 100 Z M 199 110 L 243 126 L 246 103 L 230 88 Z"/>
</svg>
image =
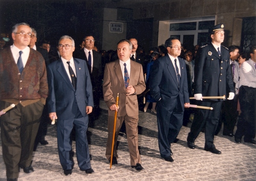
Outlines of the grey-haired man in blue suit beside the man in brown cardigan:
<svg viewBox="0 0 256 181">
<path fill-rule="evenodd" d="M 60 164 L 70 175 L 74 161 L 70 155 L 73 126 L 76 131 L 76 157 L 80 170 L 93 173 L 87 140 L 88 114 L 93 109 L 90 73 L 84 60 L 73 59 L 75 42 L 62 36 L 58 43 L 61 58 L 47 67 L 49 82 L 48 110 L 51 119 L 58 118 L 57 140 Z"/>
</svg>

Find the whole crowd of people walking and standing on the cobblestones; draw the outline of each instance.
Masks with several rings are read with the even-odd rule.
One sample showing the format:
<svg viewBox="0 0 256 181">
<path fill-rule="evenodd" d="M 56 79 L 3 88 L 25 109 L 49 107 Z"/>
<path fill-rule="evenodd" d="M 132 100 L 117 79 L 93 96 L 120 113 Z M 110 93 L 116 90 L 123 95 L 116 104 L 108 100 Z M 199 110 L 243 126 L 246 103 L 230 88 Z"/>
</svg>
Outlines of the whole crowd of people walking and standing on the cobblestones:
<svg viewBox="0 0 256 181">
<path fill-rule="evenodd" d="M 55 119 L 64 174 L 71 175 L 74 167 L 73 140 L 80 170 L 93 173 L 87 130 L 100 114 L 101 97 L 109 108 L 105 156 L 113 165 L 118 164 L 117 138 L 124 132 L 131 167 L 144 169 L 138 115 L 150 107 L 157 115 L 160 155 L 167 162 L 174 161 L 171 145 L 188 122 L 192 122 L 187 136 L 191 149 L 202 131 L 204 150 L 221 154 L 214 137 L 222 123 L 224 136 L 234 137 L 236 143 L 244 136 L 244 142 L 256 144 L 256 46 L 248 60 L 239 46 L 221 45 L 223 24 L 210 28 L 209 36 L 210 44 L 193 49 L 168 38 L 145 54 L 136 38 L 120 40 L 116 50 L 98 50 L 92 34 L 85 35 L 77 48 L 68 35 L 60 37 L 56 47 L 46 40 L 38 46 L 35 29 L 15 24 L 13 44 L 0 40 L 0 124 L 7 180 L 17 180 L 19 168 L 34 171 L 32 153 L 39 143 L 49 144 L 47 125 Z M 14 108 L 4 111 L 12 104 Z"/>
</svg>

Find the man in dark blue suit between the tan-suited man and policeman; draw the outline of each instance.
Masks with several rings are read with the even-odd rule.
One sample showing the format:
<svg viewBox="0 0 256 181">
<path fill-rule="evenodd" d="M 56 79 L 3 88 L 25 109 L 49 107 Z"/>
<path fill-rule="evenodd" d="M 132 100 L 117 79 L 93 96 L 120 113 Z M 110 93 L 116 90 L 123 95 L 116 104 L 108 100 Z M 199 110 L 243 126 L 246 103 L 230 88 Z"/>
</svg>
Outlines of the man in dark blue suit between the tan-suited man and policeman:
<svg viewBox="0 0 256 181">
<path fill-rule="evenodd" d="M 168 54 L 157 59 L 150 79 L 151 95 L 157 102 L 158 145 L 161 157 L 173 162 L 170 144 L 180 132 L 184 107 L 189 107 L 185 61 L 178 56 L 181 43 L 178 39 L 165 41 Z"/>
</svg>

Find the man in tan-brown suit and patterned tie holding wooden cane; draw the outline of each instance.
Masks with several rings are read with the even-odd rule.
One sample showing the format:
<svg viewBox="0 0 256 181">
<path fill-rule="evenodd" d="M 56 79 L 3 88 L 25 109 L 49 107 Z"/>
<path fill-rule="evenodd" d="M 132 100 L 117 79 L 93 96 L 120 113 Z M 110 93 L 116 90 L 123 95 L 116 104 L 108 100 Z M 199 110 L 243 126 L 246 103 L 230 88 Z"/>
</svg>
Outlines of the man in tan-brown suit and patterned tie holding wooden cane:
<svg viewBox="0 0 256 181">
<path fill-rule="evenodd" d="M 138 120 L 139 108 L 137 94 L 145 90 L 145 82 L 141 64 L 131 61 L 133 44 L 129 40 L 121 40 L 117 44 L 119 60 L 105 65 L 103 79 L 103 96 L 109 107 L 108 141 L 106 143 L 106 158 L 110 161 L 113 138 L 114 115 L 117 112 L 115 131 L 115 145 L 112 164 L 117 164 L 116 142 L 124 121 L 127 142 L 131 157 L 131 166 L 136 170 L 143 170 L 138 149 Z M 116 96 L 119 93 L 119 102 L 116 106 Z"/>
</svg>

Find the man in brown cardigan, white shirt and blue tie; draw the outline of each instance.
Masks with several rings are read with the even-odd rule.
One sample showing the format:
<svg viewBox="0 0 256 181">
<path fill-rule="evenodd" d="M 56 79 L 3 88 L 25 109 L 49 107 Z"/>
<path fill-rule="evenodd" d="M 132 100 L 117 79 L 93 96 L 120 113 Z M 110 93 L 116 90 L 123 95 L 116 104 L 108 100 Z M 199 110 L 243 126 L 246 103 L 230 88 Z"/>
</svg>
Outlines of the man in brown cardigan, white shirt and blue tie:
<svg viewBox="0 0 256 181">
<path fill-rule="evenodd" d="M 15 24 L 12 39 L 13 45 L 0 52 L 0 110 L 16 105 L 0 117 L 7 180 L 17 180 L 19 167 L 34 171 L 33 146 L 48 95 L 45 60 L 28 47 L 29 24 Z"/>
</svg>

